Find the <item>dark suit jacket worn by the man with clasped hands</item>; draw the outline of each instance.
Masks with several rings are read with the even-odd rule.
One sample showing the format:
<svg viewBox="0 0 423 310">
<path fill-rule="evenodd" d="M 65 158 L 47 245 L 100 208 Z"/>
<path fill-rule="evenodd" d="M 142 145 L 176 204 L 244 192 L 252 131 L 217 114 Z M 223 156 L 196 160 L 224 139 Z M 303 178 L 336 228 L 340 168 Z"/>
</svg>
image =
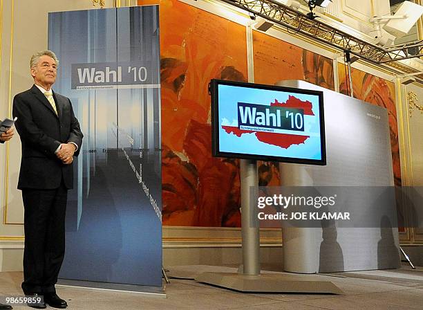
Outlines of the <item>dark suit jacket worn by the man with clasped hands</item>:
<svg viewBox="0 0 423 310">
<path fill-rule="evenodd" d="M 13 99 L 15 127 L 21 137 L 22 158 L 18 188 L 54 189 L 62 178 L 66 188 L 73 188 L 73 164 L 64 165 L 55 151 L 61 143 L 82 145 L 82 132 L 73 113 L 71 100 L 53 92 L 57 113 L 44 93 L 33 85 Z"/>
</svg>

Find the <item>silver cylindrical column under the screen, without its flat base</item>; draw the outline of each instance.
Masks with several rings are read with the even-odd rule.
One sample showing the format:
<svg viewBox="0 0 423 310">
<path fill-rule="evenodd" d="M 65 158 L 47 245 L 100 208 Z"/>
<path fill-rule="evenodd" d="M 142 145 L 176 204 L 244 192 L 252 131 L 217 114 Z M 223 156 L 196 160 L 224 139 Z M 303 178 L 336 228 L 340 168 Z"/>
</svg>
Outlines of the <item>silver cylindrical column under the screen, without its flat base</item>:
<svg viewBox="0 0 423 310">
<path fill-rule="evenodd" d="M 260 275 L 260 227 L 252 188 L 257 188 L 257 163 L 241 159 L 241 232 L 243 235 L 243 274 Z"/>
</svg>

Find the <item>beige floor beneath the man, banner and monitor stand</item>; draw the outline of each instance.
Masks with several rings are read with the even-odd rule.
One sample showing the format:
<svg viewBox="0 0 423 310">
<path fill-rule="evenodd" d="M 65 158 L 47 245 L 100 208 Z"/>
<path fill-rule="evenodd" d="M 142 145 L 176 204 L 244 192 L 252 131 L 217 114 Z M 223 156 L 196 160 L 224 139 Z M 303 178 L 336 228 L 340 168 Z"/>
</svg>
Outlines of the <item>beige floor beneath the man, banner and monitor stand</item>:
<svg viewBox="0 0 423 310">
<path fill-rule="evenodd" d="M 171 283 L 164 297 L 139 293 L 91 291 L 60 287 L 57 293 L 68 301 L 68 309 L 423 309 L 423 268 L 406 265 L 389 271 L 360 271 L 314 275 L 331 281 L 344 295 L 238 293 L 188 280 L 203 271 L 236 272 L 216 266 L 169 267 Z M 271 272 L 271 271 L 270 271 Z M 273 272 L 274 273 L 274 272 Z M 178 277 L 178 278 L 175 278 Z M 0 295 L 21 295 L 22 273 L 0 273 Z M 14 305 L 14 309 L 29 309 Z"/>
</svg>

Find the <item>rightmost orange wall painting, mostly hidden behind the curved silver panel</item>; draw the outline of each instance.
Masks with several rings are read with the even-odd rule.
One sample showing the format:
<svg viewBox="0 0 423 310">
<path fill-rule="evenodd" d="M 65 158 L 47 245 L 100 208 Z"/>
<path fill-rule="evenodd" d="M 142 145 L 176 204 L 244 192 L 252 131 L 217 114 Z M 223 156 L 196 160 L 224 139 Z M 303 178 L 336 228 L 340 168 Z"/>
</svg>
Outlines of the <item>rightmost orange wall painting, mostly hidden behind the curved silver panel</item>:
<svg viewBox="0 0 423 310">
<path fill-rule="evenodd" d="M 343 64 L 338 66 L 339 91 L 348 95 L 349 79 Z M 395 108 L 395 85 L 375 75 L 351 69 L 354 97 L 388 110 L 389 129 L 391 133 L 391 151 L 395 185 L 401 186 L 400 146 L 398 143 L 397 110 Z M 348 83 L 346 82 L 348 81 Z M 347 89 L 348 87 L 348 89 Z"/>
</svg>

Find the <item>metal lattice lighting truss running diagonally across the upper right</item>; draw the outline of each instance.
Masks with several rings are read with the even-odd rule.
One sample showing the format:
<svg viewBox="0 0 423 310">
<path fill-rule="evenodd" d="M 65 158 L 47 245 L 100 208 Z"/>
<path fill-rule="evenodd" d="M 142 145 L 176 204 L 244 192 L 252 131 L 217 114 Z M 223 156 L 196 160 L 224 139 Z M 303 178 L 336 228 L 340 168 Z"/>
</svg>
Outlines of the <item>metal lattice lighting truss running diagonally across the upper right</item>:
<svg viewBox="0 0 423 310">
<path fill-rule="evenodd" d="M 317 39 L 334 48 L 355 54 L 374 64 L 389 64 L 398 60 L 407 60 L 423 56 L 423 41 L 403 44 L 401 46 L 392 46 L 391 48 L 382 48 L 381 46 L 353 37 L 353 35 L 344 33 L 316 19 L 309 19 L 307 15 L 302 12 L 273 0 L 220 1 L 250 12 L 250 15 L 259 16 L 272 21 L 272 23 L 279 24 L 295 33 L 301 33 L 301 35 Z M 397 63 L 393 65 L 393 67 L 400 69 L 403 65 Z M 402 71 L 404 71 L 404 68 Z"/>
</svg>

